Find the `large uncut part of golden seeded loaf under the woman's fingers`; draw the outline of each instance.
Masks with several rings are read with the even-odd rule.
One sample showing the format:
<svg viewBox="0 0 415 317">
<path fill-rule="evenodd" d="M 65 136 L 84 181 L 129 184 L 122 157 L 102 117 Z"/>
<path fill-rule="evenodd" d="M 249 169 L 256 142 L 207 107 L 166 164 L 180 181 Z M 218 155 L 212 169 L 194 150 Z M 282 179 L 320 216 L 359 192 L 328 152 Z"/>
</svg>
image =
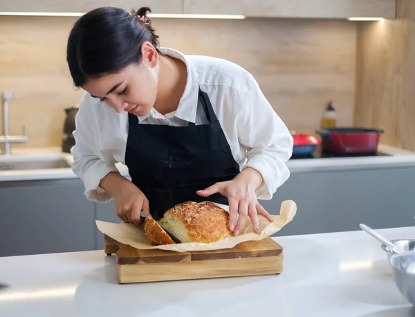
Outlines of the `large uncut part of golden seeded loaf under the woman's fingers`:
<svg viewBox="0 0 415 317">
<path fill-rule="evenodd" d="M 210 243 L 234 236 L 229 229 L 229 213 L 212 202 L 177 204 L 158 223 L 183 243 Z"/>
</svg>

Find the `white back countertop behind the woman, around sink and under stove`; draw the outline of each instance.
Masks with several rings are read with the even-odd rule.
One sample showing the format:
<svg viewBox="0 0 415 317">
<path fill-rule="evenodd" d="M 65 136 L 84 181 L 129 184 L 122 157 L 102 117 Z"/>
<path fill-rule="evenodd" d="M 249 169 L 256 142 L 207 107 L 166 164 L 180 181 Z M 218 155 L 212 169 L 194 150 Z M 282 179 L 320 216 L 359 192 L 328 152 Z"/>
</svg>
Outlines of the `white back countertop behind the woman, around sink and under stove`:
<svg viewBox="0 0 415 317">
<path fill-rule="evenodd" d="M 415 152 L 405 151 L 385 144 L 380 144 L 378 150 L 388 154 L 375 157 L 344 157 L 344 158 L 313 158 L 289 160 L 287 165 L 291 173 L 344 171 L 356 169 L 379 169 L 386 167 L 415 166 Z M 390 155 L 390 156 L 389 156 Z M 2 160 L 24 160 L 26 158 L 61 157 L 69 165 L 73 162 L 70 153 L 62 153 L 60 148 L 15 148 L 12 157 L 0 155 Z M 129 177 L 127 166 L 116 164 L 121 175 Z M 1 181 L 24 180 L 58 180 L 77 178 L 71 168 L 39 169 L 20 171 L 0 171 Z"/>
</svg>

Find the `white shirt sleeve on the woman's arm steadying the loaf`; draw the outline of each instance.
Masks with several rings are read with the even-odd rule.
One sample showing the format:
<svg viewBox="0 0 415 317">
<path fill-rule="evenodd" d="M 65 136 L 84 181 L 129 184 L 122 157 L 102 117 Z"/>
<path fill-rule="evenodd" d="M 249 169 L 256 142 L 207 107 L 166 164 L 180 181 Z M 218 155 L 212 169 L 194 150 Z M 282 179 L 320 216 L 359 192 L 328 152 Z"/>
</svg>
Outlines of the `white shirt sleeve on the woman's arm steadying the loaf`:
<svg viewBox="0 0 415 317">
<path fill-rule="evenodd" d="M 246 146 L 246 165 L 261 173 L 264 183 L 257 198 L 270 200 L 290 176 L 286 162 L 293 153 L 293 136 L 250 75 L 250 90 L 243 105 L 243 124 L 238 124 L 239 142 Z"/>
</svg>

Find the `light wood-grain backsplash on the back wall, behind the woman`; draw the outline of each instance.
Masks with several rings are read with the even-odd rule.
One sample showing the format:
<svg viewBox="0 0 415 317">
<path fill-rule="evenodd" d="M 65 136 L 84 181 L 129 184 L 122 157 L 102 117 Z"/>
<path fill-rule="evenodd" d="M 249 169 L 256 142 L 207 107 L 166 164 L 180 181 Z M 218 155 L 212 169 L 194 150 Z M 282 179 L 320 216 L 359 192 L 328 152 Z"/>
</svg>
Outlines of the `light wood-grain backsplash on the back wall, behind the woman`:
<svg viewBox="0 0 415 317">
<path fill-rule="evenodd" d="M 0 17 L 0 92 L 10 101 L 10 133 L 26 126 L 28 143 L 60 146 L 64 108 L 82 90 L 66 66 L 73 17 Z M 353 122 L 356 24 L 295 19 L 154 19 L 160 44 L 221 57 L 246 68 L 291 130 L 314 133 L 333 100 L 338 125 Z M 0 123 L 1 126 L 1 123 Z M 0 130 L 2 134 L 2 130 Z"/>
</svg>

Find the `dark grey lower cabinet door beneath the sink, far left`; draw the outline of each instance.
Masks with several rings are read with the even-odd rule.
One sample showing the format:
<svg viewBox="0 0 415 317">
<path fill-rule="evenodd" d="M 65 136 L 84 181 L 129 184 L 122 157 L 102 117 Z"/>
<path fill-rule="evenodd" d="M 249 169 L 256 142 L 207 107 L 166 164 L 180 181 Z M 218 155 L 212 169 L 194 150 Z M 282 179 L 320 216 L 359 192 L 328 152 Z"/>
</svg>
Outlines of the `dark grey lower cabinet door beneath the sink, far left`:
<svg viewBox="0 0 415 317">
<path fill-rule="evenodd" d="M 0 182 L 0 256 L 94 249 L 94 205 L 80 180 Z"/>
</svg>

